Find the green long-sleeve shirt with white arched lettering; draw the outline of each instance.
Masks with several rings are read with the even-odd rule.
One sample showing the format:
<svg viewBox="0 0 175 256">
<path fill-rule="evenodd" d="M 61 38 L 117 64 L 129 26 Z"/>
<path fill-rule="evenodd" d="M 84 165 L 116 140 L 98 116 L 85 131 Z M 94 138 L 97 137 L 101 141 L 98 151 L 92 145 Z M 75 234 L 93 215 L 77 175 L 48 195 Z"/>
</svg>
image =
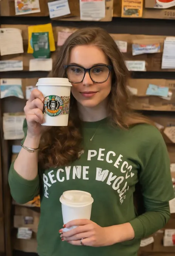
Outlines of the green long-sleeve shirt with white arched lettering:
<svg viewBox="0 0 175 256">
<path fill-rule="evenodd" d="M 26 134 L 26 122 L 24 122 Z M 93 134 L 93 140 L 90 142 Z M 38 227 L 40 256 L 136 256 L 140 240 L 162 228 L 170 217 L 174 198 L 167 148 L 159 131 L 149 124 L 128 130 L 111 127 L 107 119 L 83 123 L 84 152 L 69 166 L 43 170 L 34 180 L 20 177 L 13 164 L 9 184 L 13 198 L 24 204 L 40 191 Z M 140 182 L 145 213 L 137 216 L 133 203 L 135 184 Z M 66 190 L 92 194 L 91 220 L 112 226 L 130 222 L 135 238 L 106 247 L 73 246 L 62 242 L 59 198 Z"/>
</svg>

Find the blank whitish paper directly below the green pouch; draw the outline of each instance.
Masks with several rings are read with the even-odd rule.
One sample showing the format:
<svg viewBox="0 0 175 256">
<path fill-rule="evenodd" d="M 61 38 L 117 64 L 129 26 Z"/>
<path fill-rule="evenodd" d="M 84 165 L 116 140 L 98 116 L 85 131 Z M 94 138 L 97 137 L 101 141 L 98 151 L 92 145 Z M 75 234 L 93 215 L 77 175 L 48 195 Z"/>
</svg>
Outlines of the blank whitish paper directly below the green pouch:
<svg viewBox="0 0 175 256">
<path fill-rule="evenodd" d="M 52 59 L 30 59 L 29 71 L 51 71 Z"/>
</svg>

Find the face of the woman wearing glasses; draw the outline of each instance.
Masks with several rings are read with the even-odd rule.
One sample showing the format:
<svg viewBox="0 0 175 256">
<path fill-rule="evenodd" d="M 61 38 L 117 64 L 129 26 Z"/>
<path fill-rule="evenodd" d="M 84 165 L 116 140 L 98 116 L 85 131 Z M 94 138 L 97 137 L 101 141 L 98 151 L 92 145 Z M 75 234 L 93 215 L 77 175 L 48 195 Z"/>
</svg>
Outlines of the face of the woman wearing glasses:
<svg viewBox="0 0 175 256">
<path fill-rule="evenodd" d="M 94 45 L 78 45 L 71 51 L 69 64 L 91 68 L 94 65 L 109 65 L 109 61 L 100 48 Z M 79 77 L 82 78 L 84 71 L 74 66 L 69 67 L 69 71 L 67 69 L 67 72 L 70 72 L 69 74 L 74 79 L 72 82 L 75 82 L 75 79 L 79 81 L 77 79 Z M 95 81 L 102 82 L 107 78 L 107 72 L 106 67 L 97 66 L 91 70 L 90 74 Z M 106 102 L 107 96 L 111 91 L 111 72 L 109 73 L 109 78 L 104 83 L 93 82 L 89 76 L 89 72 L 86 72 L 82 82 L 72 83 L 71 91 L 78 103 L 84 107 L 95 107 L 102 102 Z"/>
</svg>

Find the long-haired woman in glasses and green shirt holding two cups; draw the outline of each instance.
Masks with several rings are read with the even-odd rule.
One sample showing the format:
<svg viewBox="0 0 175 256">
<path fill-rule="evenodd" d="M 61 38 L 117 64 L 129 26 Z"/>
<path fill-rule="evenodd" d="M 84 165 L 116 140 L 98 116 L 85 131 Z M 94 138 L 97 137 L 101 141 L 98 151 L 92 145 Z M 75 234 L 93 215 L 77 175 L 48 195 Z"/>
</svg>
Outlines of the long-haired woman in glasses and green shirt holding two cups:
<svg viewBox="0 0 175 256">
<path fill-rule="evenodd" d="M 140 240 L 170 217 L 174 191 L 164 140 L 131 111 L 128 70 L 106 31 L 76 31 L 55 57 L 50 76 L 72 83 L 69 124 L 41 126 L 44 97 L 32 91 L 24 108 L 25 149 L 10 168 L 11 194 L 24 204 L 40 192 L 40 256 L 135 256 Z M 133 203 L 138 182 L 145 208 L 140 216 Z M 91 220 L 65 223 L 78 226 L 68 232 L 59 202 L 66 190 L 88 191 L 94 199 Z"/>
</svg>

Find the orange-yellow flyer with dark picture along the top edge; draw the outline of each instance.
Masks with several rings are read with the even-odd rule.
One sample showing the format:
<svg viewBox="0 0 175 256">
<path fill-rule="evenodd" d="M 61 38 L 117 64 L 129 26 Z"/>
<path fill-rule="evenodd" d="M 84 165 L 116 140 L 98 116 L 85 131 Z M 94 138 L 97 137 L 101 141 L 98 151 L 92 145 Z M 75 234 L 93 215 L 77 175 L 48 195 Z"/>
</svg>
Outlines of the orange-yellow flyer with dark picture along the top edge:
<svg viewBox="0 0 175 256">
<path fill-rule="evenodd" d="M 143 13 L 143 0 L 122 0 L 121 17 L 140 18 Z"/>
</svg>

